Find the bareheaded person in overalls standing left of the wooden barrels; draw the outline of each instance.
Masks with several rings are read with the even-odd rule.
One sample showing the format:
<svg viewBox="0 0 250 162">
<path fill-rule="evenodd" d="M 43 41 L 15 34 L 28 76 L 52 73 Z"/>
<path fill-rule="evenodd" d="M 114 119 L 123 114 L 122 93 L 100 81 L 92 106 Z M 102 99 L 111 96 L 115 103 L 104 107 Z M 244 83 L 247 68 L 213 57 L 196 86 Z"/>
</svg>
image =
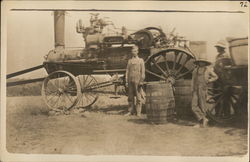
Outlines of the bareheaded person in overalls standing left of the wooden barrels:
<svg viewBox="0 0 250 162">
<path fill-rule="evenodd" d="M 145 79 L 145 66 L 143 59 L 138 57 L 139 48 L 132 47 L 132 58 L 129 59 L 126 69 L 126 84 L 128 85 L 128 113 L 132 115 L 136 110 L 136 115 L 141 116 L 142 97 L 141 88 Z M 136 97 L 136 103 L 135 103 Z"/>
</svg>

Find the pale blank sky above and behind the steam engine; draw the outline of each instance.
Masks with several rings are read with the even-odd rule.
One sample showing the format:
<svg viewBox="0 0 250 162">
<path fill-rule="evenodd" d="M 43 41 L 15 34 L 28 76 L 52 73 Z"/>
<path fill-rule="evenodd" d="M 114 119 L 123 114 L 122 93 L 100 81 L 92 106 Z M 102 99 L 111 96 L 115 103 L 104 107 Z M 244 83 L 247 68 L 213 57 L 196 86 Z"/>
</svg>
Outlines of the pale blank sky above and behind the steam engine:
<svg viewBox="0 0 250 162">
<path fill-rule="evenodd" d="M 12 2 L 6 8 L 50 8 L 50 9 L 179 9 L 179 10 L 230 10 L 246 13 L 128 13 L 99 12 L 100 17 L 109 17 L 116 27 L 140 30 L 145 27 L 161 27 L 165 33 L 176 28 L 178 35 L 190 41 L 207 41 L 207 58 L 214 61 L 215 43 L 226 37 L 248 36 L 248 8 L 240 7 L 239 2 Z M 7 29 L 7 70 L 16 72 L 43 63 L 44 56 L 54 48 L 54 22 L 50 11 L 6 11 Z M 66 14 L 66 47 L 83 47 L 81 34 L 76 33 L 75 25 L 82 19 L 89 25 L 89 12 Z M 20 78 L 43 77 L 44 69 L 22 75 Z"/>
</svg>

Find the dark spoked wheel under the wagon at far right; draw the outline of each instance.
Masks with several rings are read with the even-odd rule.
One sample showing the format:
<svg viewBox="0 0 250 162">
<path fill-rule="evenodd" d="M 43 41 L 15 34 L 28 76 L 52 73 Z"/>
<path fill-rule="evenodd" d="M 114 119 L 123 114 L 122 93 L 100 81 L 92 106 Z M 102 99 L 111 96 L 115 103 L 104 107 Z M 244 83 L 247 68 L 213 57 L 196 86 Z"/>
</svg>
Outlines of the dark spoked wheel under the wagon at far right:
<svg viewBox="0 0 250 162">
<path fill-rule="evenodd" d="M 217 81 L 208 88 L 207 115 L 217 123 L 232 122 L 239 114 L 242 88 Z"/>
</svg>

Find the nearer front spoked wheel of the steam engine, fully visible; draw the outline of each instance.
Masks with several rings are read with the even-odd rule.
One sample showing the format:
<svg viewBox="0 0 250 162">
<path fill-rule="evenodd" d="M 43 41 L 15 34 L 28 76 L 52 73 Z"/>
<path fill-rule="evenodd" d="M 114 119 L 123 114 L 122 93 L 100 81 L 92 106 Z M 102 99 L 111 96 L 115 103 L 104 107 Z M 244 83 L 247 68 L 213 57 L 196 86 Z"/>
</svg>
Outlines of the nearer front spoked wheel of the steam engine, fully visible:
<svg viewBox="0 0 250 162">
<path fill-rule="evenodd" d="M 69 72 L 53 72 L 43 82 L 42 96 L 51 109 L 68 110 L 75 106 L 79 95 L 80 85 Z"/>
</svg>

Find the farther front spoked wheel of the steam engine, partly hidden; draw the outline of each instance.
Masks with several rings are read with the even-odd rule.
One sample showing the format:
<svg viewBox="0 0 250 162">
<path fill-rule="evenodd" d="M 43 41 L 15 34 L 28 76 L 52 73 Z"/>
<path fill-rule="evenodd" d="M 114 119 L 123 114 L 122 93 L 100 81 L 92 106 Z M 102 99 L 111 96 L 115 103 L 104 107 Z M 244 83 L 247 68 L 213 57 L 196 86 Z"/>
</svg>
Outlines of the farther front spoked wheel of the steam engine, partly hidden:
<svg viewBox="0 0 250 162">
<path fill-rule="evenodd" d="M 98 99 L 98 93 L 95 92 L 95 88 L 97 88 L 96 85 L 98 82 L 95 77 L 91 75 L 79 75 L 77 76 L 77 79 L 80 83 L 81 94 L 76 107 L 90 107 Z"/>
</svg>

